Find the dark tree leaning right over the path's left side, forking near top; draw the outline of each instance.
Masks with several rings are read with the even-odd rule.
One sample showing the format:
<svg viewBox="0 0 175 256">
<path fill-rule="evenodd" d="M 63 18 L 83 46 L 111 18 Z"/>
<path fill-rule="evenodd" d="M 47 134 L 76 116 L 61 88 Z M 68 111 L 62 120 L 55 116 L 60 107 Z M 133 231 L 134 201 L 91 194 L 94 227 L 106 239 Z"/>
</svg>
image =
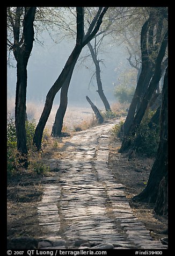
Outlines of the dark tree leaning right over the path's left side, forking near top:
<svg viewBox="0 0 175 256">
<path fill-rule="evenodd" d="M 72 72 L 75 67 L 76 60 L 81 53 L 83 47 L 88 44 L 88 42 L 94 37 L 94 35 L 98 32 L 99 27 L 102 23 L 103 17 L 107 11 L 108 7 L 99 7 L 96 15 L 94 16 L 88 31 L 84 35 L 84 8 L 83 7 L 77 7 L 76 8 L 76 26 L 77 26 L 77 36 L 76 36 L 76 45 L 70 54 L 67 62 L 65 63 L 65 66 L 53 84 L 53 86 L 50 88 L 47 96 L 46 96 L 46 102 L 44 109 L 42 111 L 39 123 L 35 129 L 34 134 L 34 145 L 36 146 L 37 150 L 41 149 L 41 140 L 42 140 L 42 133 L 43 129 L 46 125 L 47 119 L 49 117 L 50 111 L 52 109 L 54 97 L 56 93 L 63 88 L 65 92 L 68 90 L 70 79 L 72 76 Z M 65 95 L 65 94 L 62 94 Z M 65 111 L 65 105 L 60 109 L 62 113 Z M 58 110 L 59 111 L 59 110 Z"/>
</svg>

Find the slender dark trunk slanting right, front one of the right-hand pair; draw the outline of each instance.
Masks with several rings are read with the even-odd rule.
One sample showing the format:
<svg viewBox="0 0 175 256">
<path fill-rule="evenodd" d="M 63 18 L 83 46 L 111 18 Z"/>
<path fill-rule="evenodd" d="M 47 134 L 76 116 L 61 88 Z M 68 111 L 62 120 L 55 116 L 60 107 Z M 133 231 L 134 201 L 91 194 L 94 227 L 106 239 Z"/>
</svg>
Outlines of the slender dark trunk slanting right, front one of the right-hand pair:
<svg viewBox="0 0 175 256">
<path fill-rule="evenodd" d="M 128 133 L 126 134 L 125 138 L 122 141 L 122 145 L 119 150 L 120 153 L 123 153 L 123 152 L 129 150 L 128 145 L 130 147 L 131 142 L 128 144 L 128 142 L 129 142 L 128 138 L 129 138 L 129 136 L 133 136 L 137 126 L 140 125 L 141 120 L 144 116 L 145 110 L 147 109 L 148 103 L 151 99 L 151 96 L 156 89 L 157 83 L 161 79 L 161 63 L 162 63 L 162 59 L 165 55 L 166 46 L 167 46 L 167 32 L 165 33 L 161 48 L 159 49 L 159 53 L 157 55 L 155 72 L 154 72 L 154 75 L 152 76 L 151 82 L 149 84 L 149 88 L 147 89 L 147 92 L 145 93 L 145 96 L 142 99 L 140 109 L 137 111 L 137 113 L 133 119 L 133 122 L 130 125 L 130 129 L 129 129 Z"/>
</svg>

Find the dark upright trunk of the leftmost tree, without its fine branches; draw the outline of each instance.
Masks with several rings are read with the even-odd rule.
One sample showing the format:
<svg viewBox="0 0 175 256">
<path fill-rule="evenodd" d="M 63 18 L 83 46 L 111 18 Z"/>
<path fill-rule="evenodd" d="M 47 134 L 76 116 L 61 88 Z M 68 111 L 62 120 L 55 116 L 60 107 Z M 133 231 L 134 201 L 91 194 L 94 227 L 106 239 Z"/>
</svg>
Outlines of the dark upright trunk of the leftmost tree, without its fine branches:
<svg viewBox="0 0 175 256">
<path fill-rule="evenodd" d="M 20 153 L 20 163 L 27 168 L 27 145 L 26 145 L 26 88 L 27 88 L 27 63 L 33 48 L 34 29 L 33 22 L 36 7 L 25 8 L 23 22 L 24 43 L 19 46 L 18 40 L 14 39 L 13 53 L 17 61 L 17 84 L 15 102 L 15 124 L 17 136 L 17 149 Z M 19 30 L 19 27 L 18 27 Z M 14 31 L 14 38 L 17 37 Z"/>
</svg>

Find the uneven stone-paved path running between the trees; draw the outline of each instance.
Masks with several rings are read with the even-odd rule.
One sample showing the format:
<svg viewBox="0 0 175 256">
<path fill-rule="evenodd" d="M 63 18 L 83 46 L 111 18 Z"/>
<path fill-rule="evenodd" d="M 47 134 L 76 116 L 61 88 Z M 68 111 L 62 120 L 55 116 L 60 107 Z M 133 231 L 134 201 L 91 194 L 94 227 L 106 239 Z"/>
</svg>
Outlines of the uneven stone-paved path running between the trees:
<svg viewBox="0 0 175 256">
<path fill-rule="evenodd" d="M 110 130 L 116 123 L 76 133 L 65 143 L 65 159 L 50 160 L 58 173 L 53 183 L 45 179 L 38 204 L 48 240 L 39 248 L 167 248 L 152 240 L 134 216 L 125 188 L 108 169 Z"/>
</svg>

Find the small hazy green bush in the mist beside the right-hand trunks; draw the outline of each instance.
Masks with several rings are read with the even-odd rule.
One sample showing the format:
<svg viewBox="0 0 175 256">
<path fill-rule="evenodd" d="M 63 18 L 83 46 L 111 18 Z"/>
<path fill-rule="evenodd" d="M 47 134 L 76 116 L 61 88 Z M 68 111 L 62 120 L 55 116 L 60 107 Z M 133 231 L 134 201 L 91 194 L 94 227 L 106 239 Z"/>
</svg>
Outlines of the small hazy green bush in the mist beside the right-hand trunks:
<svg viewBox="0 0 175 256">
<path fill-rule="evenodd" d="M 135 88 L 123 86 L 120 84 L 115 88 L 114 95 L 120 103 L 130 103 L 134 96 Z"/>
</svg>

